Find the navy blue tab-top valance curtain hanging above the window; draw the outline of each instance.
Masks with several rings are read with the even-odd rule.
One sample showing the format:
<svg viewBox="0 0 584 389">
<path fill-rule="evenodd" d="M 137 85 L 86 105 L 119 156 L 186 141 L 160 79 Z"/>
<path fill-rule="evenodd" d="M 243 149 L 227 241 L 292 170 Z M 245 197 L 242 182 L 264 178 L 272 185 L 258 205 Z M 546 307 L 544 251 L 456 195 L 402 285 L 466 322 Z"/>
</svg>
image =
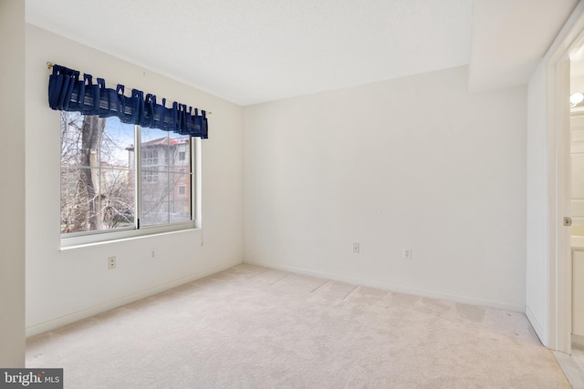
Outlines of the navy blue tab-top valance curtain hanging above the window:
<svg viewBox="0 0 584 389">
<path fill-rule="evenodd" d="M 156 96 L 132 89 L 125 96 L 124 86 L 115 89 L 106 87 L 103 78 L 81 74 L 78 70 L 53 65 L 53 74 L 48 78 L 48 105 L 52 109 L 81 112 L 83 115 L 98 115 L 100 118 L 118 117 L 124 123 L 148 128 L 160 128 L 190 137 L 207 138 L 208 123 L 204 110 L 174 102 L 166 107 Z"/>
</svg>

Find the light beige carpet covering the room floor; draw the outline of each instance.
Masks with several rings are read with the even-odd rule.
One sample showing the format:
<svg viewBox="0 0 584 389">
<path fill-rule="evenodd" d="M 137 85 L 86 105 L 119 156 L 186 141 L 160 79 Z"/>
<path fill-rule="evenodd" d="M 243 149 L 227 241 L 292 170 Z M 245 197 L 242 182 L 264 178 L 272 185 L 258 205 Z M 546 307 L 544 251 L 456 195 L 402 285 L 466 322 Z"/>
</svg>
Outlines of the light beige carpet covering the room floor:
<svg viewBox="0 0 584 389">
<path fill-rule="evenodd" d="M 66 388 L 564 388 L 524 314 L 240 265 L 27 342 Z"/>
</svg>

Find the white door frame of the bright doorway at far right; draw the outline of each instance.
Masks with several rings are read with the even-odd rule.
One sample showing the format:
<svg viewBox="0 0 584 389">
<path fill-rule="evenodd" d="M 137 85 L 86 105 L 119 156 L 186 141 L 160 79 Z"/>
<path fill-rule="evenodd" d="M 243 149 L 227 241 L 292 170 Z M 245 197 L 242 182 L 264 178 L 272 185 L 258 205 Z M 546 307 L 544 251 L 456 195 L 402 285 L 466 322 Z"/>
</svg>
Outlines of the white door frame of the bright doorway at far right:
<svg viewBox="0 0 584 389">
<path fill-rule="evenodd" d="M 570 210 L 570 60 L 584 45 L 584 2 L 579 3 L 544 58 L 547 85 L 549 348 L 571 353 L 572 260 Z"/>
</svg>

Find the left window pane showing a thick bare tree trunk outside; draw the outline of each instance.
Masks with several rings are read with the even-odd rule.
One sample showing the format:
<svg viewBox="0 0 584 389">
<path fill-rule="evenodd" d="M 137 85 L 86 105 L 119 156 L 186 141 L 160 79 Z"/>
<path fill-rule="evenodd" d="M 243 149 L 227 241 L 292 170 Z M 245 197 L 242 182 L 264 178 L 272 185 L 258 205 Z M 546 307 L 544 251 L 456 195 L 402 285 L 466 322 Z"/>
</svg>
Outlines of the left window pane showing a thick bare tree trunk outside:
<svg viewBox="0 0 584 389">
<path fill-rule="evenodd" d="M 61 231 L 134 226 L 133 126 L 61 113 Z"/>
</svg>

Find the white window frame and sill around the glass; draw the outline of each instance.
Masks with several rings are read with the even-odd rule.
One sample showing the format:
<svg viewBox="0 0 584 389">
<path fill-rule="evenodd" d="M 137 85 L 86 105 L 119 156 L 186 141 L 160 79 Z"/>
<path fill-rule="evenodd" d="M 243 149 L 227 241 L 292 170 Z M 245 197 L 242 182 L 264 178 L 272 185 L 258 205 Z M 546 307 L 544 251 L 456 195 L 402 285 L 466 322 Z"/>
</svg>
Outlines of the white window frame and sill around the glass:
<svg viewBox="0 0 584 389">
<path fill-rule="evenodd" d="M 134 145 L 141 145 L 141 126 L 134 125 Z M 157 129 L 157 128 L 151 128 Z M 162 133 L 166 131 L 161 130 Z M 188 159 L 188 166 L 190 172 L 184 171 L 184 177 L 191 175 L 191 189 L 190 189 L 190 201 L 191 201 L 191 220 L 188 221 L 177 221 L 169 222 L 163 224 L 153 224 L 153 225 L 141 225 L 141 170 L 147 169 L 148 164 L 142 166 L 141 163 L 141 146 L 135 146 L 134 151 L 134 210 L 135 210 L 135 220 L 134 225 L 129 227 L 121 227 L 113 230 L 89 230 L 89 231 L 78 231 L 78 232 L 68 232 L 60 233 L 60 247 L 61 249 L 68 249 L 77 246 L 94 245 L 100 243 L 108 243 L 112 241 L 120 241 L 133 238 L 147 237 L 157 234 L 186 231 L 186 230 L 196 230 L 199 229 L 198 226 L 198 211 L 199 211 L 199 176 L 200 176 L 200 164 L 198 154 L 201 152 L 201 148 L 198 145 L 199 138 L 190 138 L 188 151 L 190 158 Z M 160 155 L 158 156 L 160 159 Z M 187 160 L 185 158 L 185 160 Z M 179 174 L 179 173 L 172 173 Z M 187 184 L 184 187 L 188 187 Z M 169 188 L 169 193 L 173 193 L 174 189 Z M 187 190 L 188 192 L 188 190 Z M 186 195 L 185 195 L 186 196 Z M 60 230 L 60 227 L 59 227 Z"/>
</svg>

